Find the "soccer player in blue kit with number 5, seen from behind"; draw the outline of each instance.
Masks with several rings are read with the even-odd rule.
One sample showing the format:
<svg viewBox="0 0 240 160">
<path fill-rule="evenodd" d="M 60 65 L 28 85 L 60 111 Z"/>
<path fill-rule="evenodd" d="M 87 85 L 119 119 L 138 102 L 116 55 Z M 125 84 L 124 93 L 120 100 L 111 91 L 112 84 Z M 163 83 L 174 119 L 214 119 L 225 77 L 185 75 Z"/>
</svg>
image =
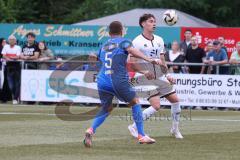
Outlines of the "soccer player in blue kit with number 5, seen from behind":
<svg viewBox="0 0 240 160">
<path fill-rule="evenodd" d="M 84 139 L 86 147 L 92 146 L 92 136 L 109 115 L 114 96 L 132 106 L 132 115 L 138 130 L 139 143 L 155 143 L 154 139 L 144 133 L 141 105 L 136 92 L 129 84 L 126 63 L 128 54 L 153 64 L 158 64 L 158 61 L 148 58 L 138 49 L 133 48 L 129 40 L 122 38 L 122 33 L 122 24 L 118 21 L 112 22 L 109 25 L 110 39 L 99 50 L 98 58 L 102 67 L 97 77 L 97 85 L 101 109 L 95 116 L 92 126 L 86 130 Z"/>
</svg>

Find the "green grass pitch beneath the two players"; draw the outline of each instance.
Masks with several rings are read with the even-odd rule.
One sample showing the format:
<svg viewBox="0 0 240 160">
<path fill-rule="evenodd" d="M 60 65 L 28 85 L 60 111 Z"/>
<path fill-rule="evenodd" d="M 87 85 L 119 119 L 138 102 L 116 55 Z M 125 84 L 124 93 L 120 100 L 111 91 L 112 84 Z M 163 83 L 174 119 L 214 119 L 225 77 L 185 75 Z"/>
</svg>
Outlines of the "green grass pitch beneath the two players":
<svg viewBox="0 0 240 160">
<path fill-rule="evenodd" d="M 63 121 L 55 106 L 0 106 L 1 160 L 239 160 L 240 112 L 183 111 L 183 140 L 169 135 L 169 110 L 145 123 L 146 132 L 157 140 L 140 145 L 127 130 L 131 110 L 117 108 L 97 130 L 92 148 L 82 141 L 89 121 Z M 71 107 L 74 114 L 91 108 Z"/>
</svg>

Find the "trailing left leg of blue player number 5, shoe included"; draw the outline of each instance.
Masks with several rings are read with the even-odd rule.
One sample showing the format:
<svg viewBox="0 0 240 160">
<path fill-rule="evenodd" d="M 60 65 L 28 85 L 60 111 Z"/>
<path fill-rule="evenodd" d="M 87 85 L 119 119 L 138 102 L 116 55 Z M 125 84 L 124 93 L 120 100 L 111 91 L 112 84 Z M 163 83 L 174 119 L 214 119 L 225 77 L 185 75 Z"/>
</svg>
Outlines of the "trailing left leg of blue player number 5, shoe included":
<svg viewBox="0 0 240 160">
<path fill-rule="evenodd" d="M 105 121 L 109 113 L 112 111 L 112 99 L 114 96 L 109 92 L 99 90 L 99 97 L 101 101 L 101 108 L 96 114 L 91 127 L 86 130 L 85 139 L 83 141 L 86 147 L 92 146 L 93 134 L 96 132 L 96 129 Z"/>
</svg>

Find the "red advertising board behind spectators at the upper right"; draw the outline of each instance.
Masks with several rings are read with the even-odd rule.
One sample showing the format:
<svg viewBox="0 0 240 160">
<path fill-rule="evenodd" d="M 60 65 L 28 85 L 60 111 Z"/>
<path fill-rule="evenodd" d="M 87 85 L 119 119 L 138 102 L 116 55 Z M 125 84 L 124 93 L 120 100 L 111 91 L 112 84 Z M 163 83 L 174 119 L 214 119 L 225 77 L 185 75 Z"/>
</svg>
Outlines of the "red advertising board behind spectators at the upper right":
<svg viewBox="0 0 240 160">
<path fill-rule="evenodd" d="M 227 47 L 228 55 L 235 50 L 236 42 L 240 41 L 240 28 L 181 28 L 181 40 L 184 39 L 186 29 L 191 29 L 193 35 L 197 36 L 201 47 L 205 47 L 208 41 L 214 41 L 219 36 L 225 38 L 225 46 Z"/>
</svg>

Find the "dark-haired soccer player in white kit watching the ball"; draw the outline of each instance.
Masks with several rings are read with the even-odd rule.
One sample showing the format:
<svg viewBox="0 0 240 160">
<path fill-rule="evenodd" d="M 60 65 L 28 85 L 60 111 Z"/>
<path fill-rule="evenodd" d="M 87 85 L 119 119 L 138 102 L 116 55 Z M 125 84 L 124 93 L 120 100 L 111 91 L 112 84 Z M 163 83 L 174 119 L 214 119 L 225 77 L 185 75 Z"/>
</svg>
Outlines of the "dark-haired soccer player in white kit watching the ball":
<svg viewBox="0 0 240 160">
<path fill-rule="evenodd" d="M 166 69 L 166 63 L 164 59 L 164 41 L 161 37 L 153 34 L 156 28 L 156 19 L 152 14 L 144 14 L 139 19 L 139 25 L 143 29 L 142 34 L 138 35 L 133 40 L 133 46 L 140 51 L 142 51 L 145 55 L 158 59 L 161 65 Z M 130 58 L 130 62 L 136 62 L 135 58 Z M 133 63 L 134 64 L 134 63 Z M 140 68 L 134 67 L 135 70 L 140 70 Z M 152 70 L 151 72 L 155 72 Z M 149 72 L 142 73 L 148 78 L 151 79 L 153 74 L 149 74 Z M 159 90 L 156 90 L 155 93 L 151 93 L 148 98 L 150 102 L 150 107 L 143 111 L 143 119 L 148 119 L 151 115 L 156 113 L 160 109 L 160 98 L 165 97 L 171 103 L 171 116 L 172 116 L 172 127 L 170 129 L 170 133 L 174 135 L 178 139 L 182 139 L 183 136 L 179 131 L 179 120 L 181 107 L 179 104 L 178 96 L 173 89 L 173 85 L 175 79 L 173 79 L 169 74 L 165 74 L 165 77 L 161 77 L 159 83 Z M 156 78 L 156 77 L 155 77 Z M 135 123 L 128 126 L 128 129 L 132 136 L 137 137 L 137 129 Z"/>
</svg>

